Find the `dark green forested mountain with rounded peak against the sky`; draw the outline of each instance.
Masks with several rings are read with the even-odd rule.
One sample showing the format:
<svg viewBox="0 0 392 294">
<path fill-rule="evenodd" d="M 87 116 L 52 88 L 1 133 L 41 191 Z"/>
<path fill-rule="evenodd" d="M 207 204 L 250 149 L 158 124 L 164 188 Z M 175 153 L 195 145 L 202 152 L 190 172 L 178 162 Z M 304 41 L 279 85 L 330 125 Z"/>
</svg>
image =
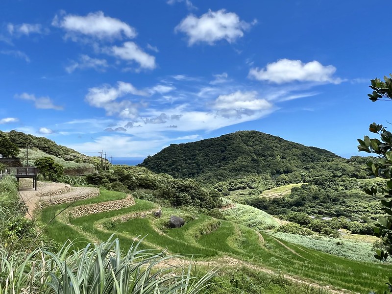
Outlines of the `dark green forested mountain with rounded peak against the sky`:
<svg viewBox="0 0 392 294">
<path fill-rule="evenodd" d="M 347 160 L 330 151 L 286 141 L 258 131 L 238 131 L 218 138 L 172 144 L 140 166 L 177 178 L 214 183 L 250 174 L 288 177 L 304 182 L 309 176 L 364 177 L 360 160 Z"/>
</svg>

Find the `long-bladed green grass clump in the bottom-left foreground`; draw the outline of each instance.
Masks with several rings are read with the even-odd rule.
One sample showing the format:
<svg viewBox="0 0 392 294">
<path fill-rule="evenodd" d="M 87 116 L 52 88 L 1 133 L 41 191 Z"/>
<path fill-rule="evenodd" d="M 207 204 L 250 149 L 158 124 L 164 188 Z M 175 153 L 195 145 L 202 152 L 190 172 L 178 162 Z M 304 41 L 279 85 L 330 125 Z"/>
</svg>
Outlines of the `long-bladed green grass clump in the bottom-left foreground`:
<svg viewBox="0 0 392 294">
<path fill-rule="evenodd" d="M 172 256 L 140 250 L 139 244 L 124 253 L 118 239 L 88 244 L 79 251 L 65 243 L 57 253 L 39 249 L 27 257 L 23 252 L 8 255 L 0 247 L 0 293 L 196 294 L 216 273 L 196 278 L 191 265 L 158 267 Z"/>
</svg>

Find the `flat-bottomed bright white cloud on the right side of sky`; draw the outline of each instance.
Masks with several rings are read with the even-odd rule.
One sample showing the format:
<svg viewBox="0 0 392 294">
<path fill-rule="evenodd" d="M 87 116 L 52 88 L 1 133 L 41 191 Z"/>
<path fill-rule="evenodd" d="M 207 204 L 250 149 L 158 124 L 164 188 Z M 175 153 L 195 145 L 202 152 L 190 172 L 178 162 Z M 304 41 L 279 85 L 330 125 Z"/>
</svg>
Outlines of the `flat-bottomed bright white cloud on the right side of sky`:
<svg viewBox="0 0 392 294">
<path fill-rule="evenodd" d="M 339 84 L 343 80 L 333 77 L 335 72 L 334 66 L 323 66 L 316 60 L 303 63 L 301 60 L 280 59 L 277 62 L 267 64 L 266 68 L 250 69 L 248 77 L 277 84 L 293 81 Z"/>
</svg>

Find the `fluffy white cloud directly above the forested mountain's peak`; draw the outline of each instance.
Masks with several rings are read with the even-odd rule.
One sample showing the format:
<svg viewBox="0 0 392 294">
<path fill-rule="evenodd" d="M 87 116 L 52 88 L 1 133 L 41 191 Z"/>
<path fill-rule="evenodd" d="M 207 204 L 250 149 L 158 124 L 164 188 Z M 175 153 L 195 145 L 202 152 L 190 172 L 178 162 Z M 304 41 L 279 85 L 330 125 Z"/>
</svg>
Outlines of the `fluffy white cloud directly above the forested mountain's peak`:
<svg viewBox="0 0 392 294">
<path fill-rule="evenodd" d="M 258 98 L 256 91 L 237 91 L 228 95 L 220 95 L 215 100 L 214 108 L 222 116 L 230 117 L 268 110 L 272 108 L 272 104 L 266 99 Z"/>
</svg>

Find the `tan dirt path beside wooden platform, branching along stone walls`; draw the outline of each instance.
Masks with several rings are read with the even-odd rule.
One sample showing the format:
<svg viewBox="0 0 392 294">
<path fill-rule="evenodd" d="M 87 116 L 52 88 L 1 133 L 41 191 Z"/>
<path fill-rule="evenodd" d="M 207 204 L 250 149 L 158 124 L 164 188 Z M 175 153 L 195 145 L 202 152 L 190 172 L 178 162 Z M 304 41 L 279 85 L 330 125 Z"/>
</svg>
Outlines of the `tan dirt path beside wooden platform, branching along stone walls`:
<svg viewBox="0 0 392 294">
<path fill-rule="evenodd" d="M 82 193 L 88 193 L 95 188 L 85 188 L 85 187 L 70 187 L 70 185 L 64 183 L 52 183 L 52 182 L 40 182 L 37 181 L 37 191 L 32 188 L 31 179 L 21 179 L 19 183 L 19 196 L 25 202 L 27 207 L 26 218 L 32 219 L 33 213 L 38 202 L 40 200 L 50 200 L 58 198 L 69 198 L 73 196 L 79 196 Z M 47 192 L 57 192 L 70 189 L 70 192 L 54 195 L 54 196 L 40 196 L 41 193 Z"/>
</svg>

